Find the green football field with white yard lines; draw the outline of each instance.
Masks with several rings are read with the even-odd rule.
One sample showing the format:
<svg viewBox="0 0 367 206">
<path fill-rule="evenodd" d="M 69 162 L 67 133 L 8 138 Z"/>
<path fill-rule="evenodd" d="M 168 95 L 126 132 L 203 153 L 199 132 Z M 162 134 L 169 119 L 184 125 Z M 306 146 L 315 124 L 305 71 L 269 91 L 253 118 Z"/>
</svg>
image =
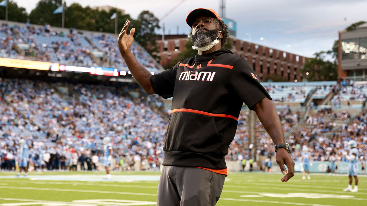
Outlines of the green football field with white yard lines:
<svg viewBox="0 0 367 206">
<path fill-rule="evenodd" d="M 0 206 L 134 206 L 156 205 L 159 172 L 32 172 L 15 177 L 0 173 Z M 302 174 L 281 183 L 282 174 L 229 173 L 217 206 L 366 206 L 367 176 L 359 176 L 359 192 L 343 192 L 344 174 Z M 353 183 L 354 185 L 354 183 Z"/>
</svg>

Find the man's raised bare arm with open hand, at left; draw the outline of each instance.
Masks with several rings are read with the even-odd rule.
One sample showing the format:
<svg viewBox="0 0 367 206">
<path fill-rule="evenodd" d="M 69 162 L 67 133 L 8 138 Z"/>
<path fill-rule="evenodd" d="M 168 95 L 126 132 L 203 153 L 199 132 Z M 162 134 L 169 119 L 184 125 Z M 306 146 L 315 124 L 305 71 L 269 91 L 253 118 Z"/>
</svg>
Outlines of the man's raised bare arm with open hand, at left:
<svg viewBox="0 0 367 206">
<path fill-rule="evenodd" d="M 155 94 L 152 85 L 150 84 L 150 77 L 152 77 L 152 74 L 138 62 L 138 60 L 130 51 L 130 47 L 134 42 L 135 28 L 132 28 L 130 30 L 130 35 L 127 35 L 126 31 L 129 25 L 130 21 L 127 20 L 117 40 L 120 54 L 122 58 L 124 58 L 132 77 L 134 77 L 144 91 L 149 95 Z"/>
</svg>

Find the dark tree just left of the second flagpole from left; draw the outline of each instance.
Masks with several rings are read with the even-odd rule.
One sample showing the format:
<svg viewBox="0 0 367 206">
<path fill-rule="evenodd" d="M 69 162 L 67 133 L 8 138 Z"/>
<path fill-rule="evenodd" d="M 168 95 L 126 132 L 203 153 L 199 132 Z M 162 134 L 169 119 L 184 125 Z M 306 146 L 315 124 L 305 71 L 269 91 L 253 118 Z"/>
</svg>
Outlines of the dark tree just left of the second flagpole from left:
<svg viewBox="0 0 367 206">
<path fill-rule="evenodd" d="M 29 14 L 30 22 L 41 25 L 47 22 L 51 26 L 61 27 L 62 14 L 53 14 L 61 5 L 62 0 L 40 0 Z"/>
</svg>

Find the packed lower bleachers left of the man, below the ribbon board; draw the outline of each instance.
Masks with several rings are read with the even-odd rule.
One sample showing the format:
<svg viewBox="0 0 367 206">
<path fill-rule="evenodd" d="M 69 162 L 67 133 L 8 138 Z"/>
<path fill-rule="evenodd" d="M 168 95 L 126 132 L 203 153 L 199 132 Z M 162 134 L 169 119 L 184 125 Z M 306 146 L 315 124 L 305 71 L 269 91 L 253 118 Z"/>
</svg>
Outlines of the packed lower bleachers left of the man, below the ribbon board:
<svg viewBox="0 0 367 206">
<path fill-rule="evenodd" d="M 154 98 L 136 103 L 128 98 L 127 86 L 117 89 L 103 85 L 67 84 L 80 95 L 80 102 L 77 102 L 60 98 L 55 91 L 58 86 L 55 83 L 3 79 L 0 85 L 5 100 L 1 102 L 1 113 L 6 114 L 0 124 L 1 131 L 4 131 L 0 136 L 3 161 L 12 152 L 15 164 L 19 155 L 17 141 L 23 137 L 32 146 L 33 163 L 59 169 L 55 165 L 59 165 L 62 155 L 67 165 L 73 165 L 75 156 L 76 159 L 81 156 L 88 159 L 92 157 L 92 151 L 101 151 L 105 136 L 113 139 L 116 162 L 124 158 L 124 165 L 131 165 L 137 158 L 139 161 L 153 158 L 159 166 L 162 161 L 167 123 L 150 109 L 149 101 Z M 4 105 L 6 102 L 8 106 Z M 7 110 L 7 107 L 12 110 Z M 25 128 L 23 122 L 26 121 L 20 118 L 22 116 L 35 125 L 28 123 Z M 39 132 L 32 133 L 33 130 Z M 50 154 L 51 163 L 50 159 L 47 163 L 43 157 Z M 34 159 L 36 156 L 38 158 Z M 3 169 L 8 169 L 4 166 L 8 163 L 3 162 L 2 165 Z"/>
</svg>

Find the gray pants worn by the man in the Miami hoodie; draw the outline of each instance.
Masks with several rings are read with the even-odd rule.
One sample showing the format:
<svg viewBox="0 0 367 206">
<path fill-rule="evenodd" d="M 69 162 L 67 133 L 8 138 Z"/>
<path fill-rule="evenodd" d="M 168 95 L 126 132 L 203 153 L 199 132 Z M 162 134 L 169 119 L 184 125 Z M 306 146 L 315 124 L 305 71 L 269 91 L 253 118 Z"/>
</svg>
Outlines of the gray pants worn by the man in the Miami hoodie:
<svg viewBox="0 0 367 206">
<path fill-rule="evenodd" d="M 225 175 L 193 167 L 163 166 L 157 206 L 214 206 Z"/>
</svg>

